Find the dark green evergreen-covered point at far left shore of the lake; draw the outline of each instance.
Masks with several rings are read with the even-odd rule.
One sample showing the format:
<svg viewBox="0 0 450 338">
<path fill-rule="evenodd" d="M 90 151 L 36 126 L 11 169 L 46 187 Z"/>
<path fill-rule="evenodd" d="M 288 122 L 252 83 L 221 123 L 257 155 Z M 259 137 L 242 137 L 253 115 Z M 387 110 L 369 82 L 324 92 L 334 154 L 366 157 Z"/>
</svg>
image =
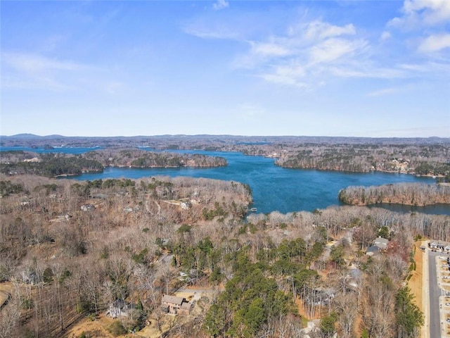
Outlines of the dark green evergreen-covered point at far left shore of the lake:
<svg viewBox="0 0 450 338">
<path fill-rule="evenodd" d="M 0 172 L 6 175 L 40 175 L 58 177 L 61 175 L 81 175 L 83 172 L 103 172 L 98 161 L 80 156 L 41 154 L 36 161 L 0 163 Z"/>
</svg>

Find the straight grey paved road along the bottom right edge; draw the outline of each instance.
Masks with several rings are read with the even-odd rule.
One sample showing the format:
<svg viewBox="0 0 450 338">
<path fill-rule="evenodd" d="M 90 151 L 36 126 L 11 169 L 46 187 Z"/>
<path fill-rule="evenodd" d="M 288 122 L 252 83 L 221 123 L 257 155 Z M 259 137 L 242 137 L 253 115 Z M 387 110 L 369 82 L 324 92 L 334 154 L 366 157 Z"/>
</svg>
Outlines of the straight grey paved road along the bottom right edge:
<svg viewBox="0 0 450 338">
<path fill-rule="evenodd" d="M 441 337 L 439 296 L 441 296 L 442 293 L 437 284 L 436 256 L 441 256 L 441 253 L 428 250 L 428 276 L 430 278 L 430 337 L 432 338 Z"/>
</svg>

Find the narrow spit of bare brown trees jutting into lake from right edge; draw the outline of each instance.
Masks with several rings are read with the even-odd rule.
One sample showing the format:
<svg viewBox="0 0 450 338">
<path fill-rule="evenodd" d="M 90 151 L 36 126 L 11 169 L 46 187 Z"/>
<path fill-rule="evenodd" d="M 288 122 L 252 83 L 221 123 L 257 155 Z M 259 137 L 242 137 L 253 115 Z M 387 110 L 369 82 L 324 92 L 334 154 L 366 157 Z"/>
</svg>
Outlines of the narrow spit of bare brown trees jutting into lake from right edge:
<svg viewBox="0 0 450 338">
<path fill-rule="evenodd" d="M 450 185 L 398 183 L 373 187 L 347 187 L 339 192 L 345 204 L 368 206 L 393 203 L 411 206 L 428 206 L 443 203 L 450 205 Z"/>
</svg>

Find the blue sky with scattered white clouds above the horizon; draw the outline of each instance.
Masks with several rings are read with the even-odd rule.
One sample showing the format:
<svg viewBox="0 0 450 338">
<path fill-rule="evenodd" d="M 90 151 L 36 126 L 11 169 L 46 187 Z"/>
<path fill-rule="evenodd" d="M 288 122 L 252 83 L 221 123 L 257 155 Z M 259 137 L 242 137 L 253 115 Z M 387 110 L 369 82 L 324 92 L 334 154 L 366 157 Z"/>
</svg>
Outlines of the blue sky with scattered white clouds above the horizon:
<svg viewBox="0 0 450 338">
<path fill-rule="evenodd" d="M 450 1 L 1 1 L 0 134 L 450 137 Z"/>
</svg>

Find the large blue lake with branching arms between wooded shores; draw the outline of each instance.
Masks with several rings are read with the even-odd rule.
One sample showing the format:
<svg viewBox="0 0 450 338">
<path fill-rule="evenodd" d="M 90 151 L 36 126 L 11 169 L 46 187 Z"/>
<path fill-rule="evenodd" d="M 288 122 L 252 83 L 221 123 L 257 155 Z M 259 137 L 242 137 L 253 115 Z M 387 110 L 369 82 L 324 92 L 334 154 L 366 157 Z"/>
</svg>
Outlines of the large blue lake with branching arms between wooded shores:
<svg viewBox="0 0 450 338">
<path fill-rule="evenodd" d="M 57 152 L 82 154 L 92 148 L 57 148 L 53 150 L 29 149 L 21 147 L 0 147 L 0 151 L 27 150 L 35 152 Z M 103 173 L 86 173 L 73 180 L 99 180 L 106 178 L 141 178 L 158 175 L 170 177 L 206 177 L 216 180 L 243 182 L 250 185 L 254 204 L 258 213 L 280 211 L 313 211 L 341 205 L 338 192 L 348 186 L 370 186 L 399 182 L 423 182 L 432 184 L 431 177 L 390 173 L 342 173 L 323 170 L 286 169 L 274 165 L 273 158 L 245 156 L 236 152 L 221 151 L 176 151 L 187 154 L 205 154 L 226 158 L 228 165 L 219 168 L 105 168 Z M 394 211 L 420 211 L 426 213 L 450 214 L 449 205 L 439 204 L 425 208 L 410 206 L 386 206 Z"/>
</svg>

